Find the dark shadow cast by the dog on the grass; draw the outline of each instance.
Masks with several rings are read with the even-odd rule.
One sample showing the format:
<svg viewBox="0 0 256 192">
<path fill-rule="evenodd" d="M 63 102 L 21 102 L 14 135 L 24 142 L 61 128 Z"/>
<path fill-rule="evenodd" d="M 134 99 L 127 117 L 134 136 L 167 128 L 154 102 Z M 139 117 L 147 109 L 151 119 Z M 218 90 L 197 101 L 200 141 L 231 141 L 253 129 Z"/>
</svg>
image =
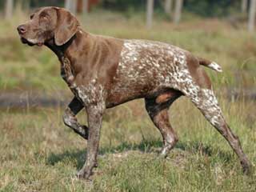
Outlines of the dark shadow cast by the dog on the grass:
<svg viewBox="0 0 256 192">
<path fill-rule="evenodd" d="M 116 147 L 105 147 L 99 151 L 99 154 L 117 154 L 128 150 L 139 150 L 143 153 L 156 153 L 155 148 L 162 147 L 161 141 L 143 141 L 138 144 L 123 142 Z M 153 150 L 154 149 L 154 150 Z M 201 142 L 178 142 L 175 149 L 184 150 L 192 154 L 200 153 L 202 156 L 216 156 L 224 162 L 230 162 L 232 153 L 227 153 L 221 149 L 213 146 L 203 145 Z M 66 150 L 61 154 L 50 154 L 47 158 L 46 164 L 54 166 L 58 162 L 64 162 L 65 159 L 76 159 L 78 169 L 82 167 L 86 157 L 86 150 Z"/>
</svg>

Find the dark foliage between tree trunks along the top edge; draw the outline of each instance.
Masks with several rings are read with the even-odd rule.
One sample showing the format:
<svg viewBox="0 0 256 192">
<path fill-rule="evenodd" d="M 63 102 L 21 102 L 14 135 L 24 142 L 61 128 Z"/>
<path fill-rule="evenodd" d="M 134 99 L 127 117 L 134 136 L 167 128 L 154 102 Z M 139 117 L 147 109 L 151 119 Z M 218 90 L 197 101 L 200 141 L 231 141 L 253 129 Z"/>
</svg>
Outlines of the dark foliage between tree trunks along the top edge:
<svg viewBox="0 0 256 192">
<path fill-rule="evenodd" d="M 32 7 L 38 6 L 63 6 L 63 0 L 14 0 L 22 4 L 30 3 Z M 104 8 L 115 11 L 143 11 L 146 9 L 146 0 L 102 0 L 98 8 Z M 163 12 L 163 0 L 154 0 L 155 8 Z M 220 17 L 227 16 L 230 13 L 240 11 L 240 0 L 184 0 L 184 10 L 202 17 Z M 3 8 L 4 1 L 0 2 L 0 8 Z"/>
</svg>

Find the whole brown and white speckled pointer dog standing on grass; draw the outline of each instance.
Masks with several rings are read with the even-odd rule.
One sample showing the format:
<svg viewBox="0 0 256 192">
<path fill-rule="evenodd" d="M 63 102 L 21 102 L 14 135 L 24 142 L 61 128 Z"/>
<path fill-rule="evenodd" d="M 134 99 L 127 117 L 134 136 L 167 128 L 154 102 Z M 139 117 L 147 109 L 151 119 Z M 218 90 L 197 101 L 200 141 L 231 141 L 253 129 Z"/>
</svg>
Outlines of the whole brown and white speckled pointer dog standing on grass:
<svg viewBox="0 0 256 192">
<path fill-rule="evenodd" d="M 206 119 L 230 143 L 245 172 L 250 161 L 223 118 L 210 79 L 202 66 L 221 71 L 215 62 L 197 58 L 186 50 L 162 42 L 122 40 L 89 34 L 69 11 L 43 7 L 18 26 L 22 42 L 46 45 L 61 62 L 62 78 L 74 98 L 63 120 L 88 139 L 86 162 L 78 178 L 89 178 L 97 166 L 102 115 L 107 108 L 136 98 L 145 98 L 146 110 L 163 138 L 162 156 L 178 142 L 170 126 L 168 109 L 180 96 L 190 98 Z M 88 127 L 75 115 L 86 108 Z"/>
</svg>

